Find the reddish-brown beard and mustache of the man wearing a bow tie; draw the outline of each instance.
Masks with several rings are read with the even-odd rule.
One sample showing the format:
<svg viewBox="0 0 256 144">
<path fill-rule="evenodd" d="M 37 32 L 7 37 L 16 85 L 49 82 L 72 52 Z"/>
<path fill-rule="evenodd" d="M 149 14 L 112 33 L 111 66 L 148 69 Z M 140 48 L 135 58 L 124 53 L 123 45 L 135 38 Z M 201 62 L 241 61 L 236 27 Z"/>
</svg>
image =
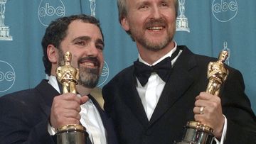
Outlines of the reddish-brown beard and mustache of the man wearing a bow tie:
<svg viewBox="0 0 256 144">
<path fill-rule="evenodd" d="M 168 24 L 163 18 L 153 19 L 145 23 L 143 30 L 152 26 L 164 26 L 164 28 L 167 28 Z M 134 40 L 136 40 L 140 45 L 142 45 L 147 50 L 156 52 L 166 48 L 166 46 L 169 45 L 169 43 L 171 43 L 171 41 L 174 38 L 176 27 L 174 23 L 174 26 L 171 26 L 171 29 L 167 30 L 166 38 L 158 42 L 153 42 L 152 40 L 149 40 L 149 38 L 146 38 L 143 30 L 137 28 L 136 26 L 132 26 L 130 29 L 132 38 L 134 38 Z"/>
</svg>

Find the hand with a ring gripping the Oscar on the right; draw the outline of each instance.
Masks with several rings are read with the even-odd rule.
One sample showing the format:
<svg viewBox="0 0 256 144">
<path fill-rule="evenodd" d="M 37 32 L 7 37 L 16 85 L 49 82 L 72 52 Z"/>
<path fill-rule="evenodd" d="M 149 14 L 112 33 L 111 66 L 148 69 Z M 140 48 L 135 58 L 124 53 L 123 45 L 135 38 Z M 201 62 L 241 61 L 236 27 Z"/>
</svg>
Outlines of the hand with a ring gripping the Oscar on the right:
<svg viewBox="0 0 256 144">
<path fill-rule="evenodd" d="M 222 112 L 220 97 L 213 96 L 207 92 L 201 92 L 196 96 L 193 113 L 195 113 L 194 118 L 196 121 L 213 128 L 215 137 L 221 138 L 225 118 Z"/>
</svg>

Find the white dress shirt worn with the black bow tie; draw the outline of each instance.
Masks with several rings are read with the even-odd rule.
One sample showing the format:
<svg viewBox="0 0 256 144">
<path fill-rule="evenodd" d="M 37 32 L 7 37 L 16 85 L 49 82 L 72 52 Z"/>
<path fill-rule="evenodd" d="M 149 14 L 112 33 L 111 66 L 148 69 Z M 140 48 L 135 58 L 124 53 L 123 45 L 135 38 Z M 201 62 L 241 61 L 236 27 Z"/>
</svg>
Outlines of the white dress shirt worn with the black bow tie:
<svg viewBox="0 0 256 144">
<path fill-rule="evenodd" d="M 171 55 L 175 52 L 176 49 L 177 49 L 177 44 L 175 43 L 175 47 L 170 52 L 168 52 L 166 55 L 164 55 L 164 57 L 161 57 L 159 60 L 154 62 L 152 65 L 156 65 L 157 63 L 161 62 L 161 60 L 164 60 L 166 57 L 171 57 Z M 181 52 L 182 50 L 178 52 L 178 55 L 174 58 L 174 60 L 171 60 L 171 65 L 174 65 L 174 63 L 178 59 L 178 56 L 181 55 Z M 139 62 L 142 62 L 145 65 L 149 65 L 149 63 L 142 60 L 142 57 L 140 57 L 140 55 L 139 55 Z M 152 65 L 149 65 L 149 66 L 152 66 Z M 142 84 L 140 84 L 139 80 L 137 79 L 136 89 L 137 89 L 137 92 L 139 93 L 140 99 L 142 100 L 142 105 L 144 106 L 144 110 L 146 112 L 146 116 L 148 117 L 149 121 L 154 112 L 154 109 L 156 108 L 156 104 L 159 101 L 161 92 L 163 91 L 165 84 L 166 82 L 164 82 L 159 77 L 159 75 L 156 74 L 156 72 L 151 73 L 151 76 L 149 77 L 149 81 L 144 85 L 144 87 L 142 87 Z M 215 138 L 216 143 L 223 144 L 225 140 L 226 131 L 227 131 L 227 119 L 225 118 L 221 140 L 218 141 Z"/>
</svg>

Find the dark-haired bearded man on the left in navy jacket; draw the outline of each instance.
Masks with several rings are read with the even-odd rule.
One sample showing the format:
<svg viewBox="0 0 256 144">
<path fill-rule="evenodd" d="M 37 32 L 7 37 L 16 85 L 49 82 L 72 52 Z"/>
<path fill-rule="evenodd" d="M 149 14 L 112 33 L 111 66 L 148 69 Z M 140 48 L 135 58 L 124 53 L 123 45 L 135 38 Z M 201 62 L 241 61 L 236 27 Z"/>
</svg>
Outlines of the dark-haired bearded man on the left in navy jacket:
<svg viewBox="0 0 256 144">
<path fill-rule="evenodd" d="M 0 98 L 0 143 L 56 143 L 55 130 L 68 124 L 82 124 L 87 143 L 117 143 L 111 119 L 90 95 L 104 62 L 99 21 L 83 14 L 58 18 L 46 28 L 41 44 L 48 79 Z M 70 64 L 80 73 L 78 94 L 63 94 L 56 79 L 65 52 L 72 54 Z"/>
</svg>

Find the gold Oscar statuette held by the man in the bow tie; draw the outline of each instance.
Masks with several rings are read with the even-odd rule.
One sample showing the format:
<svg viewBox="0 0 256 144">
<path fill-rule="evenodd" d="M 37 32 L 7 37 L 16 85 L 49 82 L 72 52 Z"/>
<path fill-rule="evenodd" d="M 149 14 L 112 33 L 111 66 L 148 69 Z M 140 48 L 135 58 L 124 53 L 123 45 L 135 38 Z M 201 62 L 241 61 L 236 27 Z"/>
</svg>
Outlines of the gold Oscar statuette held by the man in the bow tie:
<svg viewBox="0 0 256 144">
<path fill-rule="evenodd" d="M 219 96 L 220 87 L 228 77 L 228 70 L 225 68 L 224 62 L 228 58 L 228 51 L 220 52 L 216 62 L 209 62 L 207 78 L 209 79 L 206 92 Z M 213 143 L 213 128 L 206 126 L 199 121 L 188 121 L 185 126 L 183 138 L 181 142 L 176 144 L 211 144 Z"/>
</svg>

